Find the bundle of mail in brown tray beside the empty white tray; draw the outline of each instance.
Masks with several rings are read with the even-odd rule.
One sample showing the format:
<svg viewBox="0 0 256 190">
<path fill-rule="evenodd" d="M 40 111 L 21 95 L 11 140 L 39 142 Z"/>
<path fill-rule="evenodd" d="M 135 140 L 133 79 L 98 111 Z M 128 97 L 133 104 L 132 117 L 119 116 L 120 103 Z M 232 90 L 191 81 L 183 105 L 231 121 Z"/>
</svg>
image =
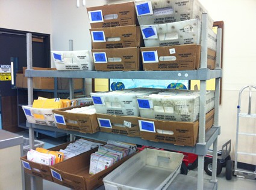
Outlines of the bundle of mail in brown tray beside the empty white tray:
<svg viewBox="0 0 256 190">
<path fill-rule="evenodd" d="M 97 152 L 92 153 L 90 158 L 90 174 L 99 173 L 111 167 L 120 159 L 136 152 L 136 144 L 122 143 L 109 140 L 104 146 L 99 146 Z"/>
</svg>

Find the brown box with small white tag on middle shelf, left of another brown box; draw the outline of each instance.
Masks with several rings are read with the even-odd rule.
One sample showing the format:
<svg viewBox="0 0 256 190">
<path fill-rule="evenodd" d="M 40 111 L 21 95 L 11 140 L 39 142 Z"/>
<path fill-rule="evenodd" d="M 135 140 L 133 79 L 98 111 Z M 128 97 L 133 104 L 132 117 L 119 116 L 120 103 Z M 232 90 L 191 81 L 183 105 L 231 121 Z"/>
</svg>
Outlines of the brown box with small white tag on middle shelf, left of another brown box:
<svg viewBox="0 0 256 190">
<path fill-rule="evenodd" d="M 97 113 L 99 128 L 102 132 L 111 132 L 130 137 L 140 137 L 139 117 L 117 116 Z"/>
</svg>

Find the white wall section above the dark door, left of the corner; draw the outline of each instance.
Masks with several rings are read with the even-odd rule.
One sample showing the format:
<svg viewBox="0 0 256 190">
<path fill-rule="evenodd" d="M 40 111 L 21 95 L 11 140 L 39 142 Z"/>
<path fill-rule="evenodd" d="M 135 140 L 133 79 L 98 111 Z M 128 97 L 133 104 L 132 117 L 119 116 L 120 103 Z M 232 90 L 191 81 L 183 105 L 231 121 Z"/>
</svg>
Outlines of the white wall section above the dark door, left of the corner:
<svg viewBox="0 0 256 190">
<path fill-rule="evenodd" d="M 0 27 L 51 34 L 50 0 L 0 0 Z"/>
</svg>

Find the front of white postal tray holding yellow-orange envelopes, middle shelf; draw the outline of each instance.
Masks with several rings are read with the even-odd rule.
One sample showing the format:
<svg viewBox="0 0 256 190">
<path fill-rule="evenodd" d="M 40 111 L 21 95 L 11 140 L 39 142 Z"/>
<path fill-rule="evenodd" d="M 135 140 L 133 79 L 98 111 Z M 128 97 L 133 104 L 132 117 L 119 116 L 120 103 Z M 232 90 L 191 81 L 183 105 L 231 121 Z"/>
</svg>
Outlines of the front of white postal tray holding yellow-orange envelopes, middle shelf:
<svg viewBox="0 0 256 190">
<path fill-rule="evenodd" d="M 34 108 L 32 105 L 22 105 L 29 123 L 56 126 L 53 108 Z"/>
</svg>

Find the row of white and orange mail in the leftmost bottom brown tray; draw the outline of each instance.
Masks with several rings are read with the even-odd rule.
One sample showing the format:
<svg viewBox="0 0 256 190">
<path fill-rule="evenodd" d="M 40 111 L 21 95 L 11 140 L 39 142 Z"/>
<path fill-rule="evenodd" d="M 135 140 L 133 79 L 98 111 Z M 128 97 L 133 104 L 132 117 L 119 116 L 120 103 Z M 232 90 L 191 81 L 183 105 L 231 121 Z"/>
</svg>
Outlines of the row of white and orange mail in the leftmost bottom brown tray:
<svg viewBox="0 0 256 190">
<path fill-rule="evenodd" d="M 87 152 L 91 149 L 95 149 L 101 145 L 101 143 L 87 141 L 83 138 L 80 138 L 74 143 L 67 145 L 66 149 L 60 149 L 59 151 L 37 147 L 36 150 L 28 151 L 27 159 L 39 164 L 54 165 L 58 162 L 72 158 L 73 156 L 80 155 L 81 153 Z"/>
</svg>

